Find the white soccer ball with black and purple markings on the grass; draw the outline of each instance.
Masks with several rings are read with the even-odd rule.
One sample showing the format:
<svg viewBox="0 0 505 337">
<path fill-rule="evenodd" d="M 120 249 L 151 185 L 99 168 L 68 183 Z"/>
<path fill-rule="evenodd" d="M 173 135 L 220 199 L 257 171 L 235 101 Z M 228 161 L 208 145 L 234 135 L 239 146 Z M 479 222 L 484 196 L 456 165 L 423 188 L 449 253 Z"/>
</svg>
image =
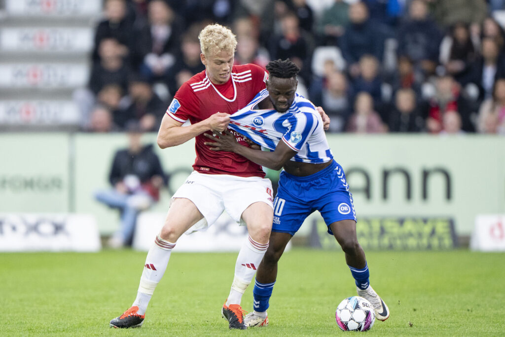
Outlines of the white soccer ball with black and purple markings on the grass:
<svg viewBox="0 0 505 337">
<path fill-rule="evenodd" d="M 335 320 L 343 331 L 367 331 L 374 325 L 375 311 L 368 300 L 352 296 L 340 302 Z"/>
</svg>

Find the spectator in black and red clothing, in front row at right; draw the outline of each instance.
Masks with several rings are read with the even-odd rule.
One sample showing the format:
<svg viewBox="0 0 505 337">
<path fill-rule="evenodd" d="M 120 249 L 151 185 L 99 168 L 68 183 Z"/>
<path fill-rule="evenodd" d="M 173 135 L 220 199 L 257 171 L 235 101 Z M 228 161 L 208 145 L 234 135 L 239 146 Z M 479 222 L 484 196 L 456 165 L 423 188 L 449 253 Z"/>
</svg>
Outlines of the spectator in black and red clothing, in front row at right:
<svg viewBox="0 0 505 337">
<path fill-rule="evenodd" d="M 474 107 L 465 97 L 461 86 L 452 76 L 445 74 L 436 79 L 436 94 L 430 101 L 426 128 L 431 133 L 443 130 L 443 116 L 448 111 L 456 111 L 461 116 L 462 128 L 474 132 Z"/>
</svg>

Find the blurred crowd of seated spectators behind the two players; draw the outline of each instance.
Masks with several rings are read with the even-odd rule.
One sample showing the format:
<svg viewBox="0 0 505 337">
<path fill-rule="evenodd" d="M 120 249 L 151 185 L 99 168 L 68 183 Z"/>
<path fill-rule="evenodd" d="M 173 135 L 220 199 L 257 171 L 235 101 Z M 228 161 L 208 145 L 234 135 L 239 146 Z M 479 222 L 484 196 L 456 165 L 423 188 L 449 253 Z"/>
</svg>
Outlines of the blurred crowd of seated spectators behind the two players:
<svg viewBox="0 0 505 337">
<path fill-rule="evenodd" d="M 505 0 L 104 0 L 82 129 L 158 131 L 204 70 L 198 33 L 237 35 L 236 64 L 289 58 L 331 132 L 505 134 Z"/>
</svg>

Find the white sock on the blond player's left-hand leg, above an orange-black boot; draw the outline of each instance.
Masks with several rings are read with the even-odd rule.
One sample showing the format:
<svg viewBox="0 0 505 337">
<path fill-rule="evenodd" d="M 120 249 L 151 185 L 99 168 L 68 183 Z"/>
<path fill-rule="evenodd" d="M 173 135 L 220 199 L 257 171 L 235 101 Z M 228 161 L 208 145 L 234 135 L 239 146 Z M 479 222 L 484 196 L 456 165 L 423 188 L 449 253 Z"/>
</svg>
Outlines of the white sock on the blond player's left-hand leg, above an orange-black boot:
<svg viewBox="0 0 505 337">
<path fill-rule="evenodd" d="M 158 235 L 153 246 L 149 249 L 145 258 L 144 270 L 140 277 L 140 284 L 138 285 L 137 298 L 132 305 L 138 307 L 140 315 L 145 313 L 149 300 L 155 292 L 156 285 L 165 274 L 168 260 L 170 260 L 170 253 L 172 253 L 174 247 L 175 244 L 162 239 Z"/>
</svg>

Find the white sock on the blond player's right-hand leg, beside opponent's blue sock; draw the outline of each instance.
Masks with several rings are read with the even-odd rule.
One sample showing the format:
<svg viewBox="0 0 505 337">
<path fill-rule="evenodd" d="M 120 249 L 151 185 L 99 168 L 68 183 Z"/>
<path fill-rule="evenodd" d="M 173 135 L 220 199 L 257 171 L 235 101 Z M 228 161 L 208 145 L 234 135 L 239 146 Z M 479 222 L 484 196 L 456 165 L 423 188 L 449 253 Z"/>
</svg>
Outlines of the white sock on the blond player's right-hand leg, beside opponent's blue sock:
<svg viewBox="0 0 505 337">
<path fill-rule="evenodd" d="M 260 265 L 267 248 L 268 243 L 260 244 L 250 236 L 247 237 L 238 253 L 237 262 L 235 263 L 235 276 L 226 305 L 240 304 L 242 295 L 256 273 L 256 269 Z"/>
</svg>

